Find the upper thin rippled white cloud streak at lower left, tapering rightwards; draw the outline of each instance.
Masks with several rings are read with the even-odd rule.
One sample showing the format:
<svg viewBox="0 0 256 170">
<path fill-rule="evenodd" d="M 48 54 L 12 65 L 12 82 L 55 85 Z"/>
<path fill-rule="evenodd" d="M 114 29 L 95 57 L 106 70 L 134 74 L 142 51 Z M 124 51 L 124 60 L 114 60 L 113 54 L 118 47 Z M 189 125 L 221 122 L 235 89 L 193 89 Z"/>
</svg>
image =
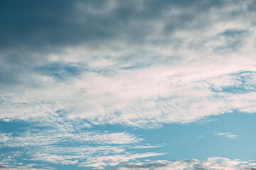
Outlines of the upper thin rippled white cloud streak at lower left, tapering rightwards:
<svg viewBox="0 0 256 170">
<path fill-rule="evenodd" d="M 127 132 L 61 132 L 60 130 L 36 130 L 22 132 L 14 136 L 12 133 L 0 133 L 0 147 L 26 147 L 33 145 L 51 145 L 61 141 L 87 142 L 100 145 L 125 145 L 141 142 L 142 139 Z"/>
</svg>

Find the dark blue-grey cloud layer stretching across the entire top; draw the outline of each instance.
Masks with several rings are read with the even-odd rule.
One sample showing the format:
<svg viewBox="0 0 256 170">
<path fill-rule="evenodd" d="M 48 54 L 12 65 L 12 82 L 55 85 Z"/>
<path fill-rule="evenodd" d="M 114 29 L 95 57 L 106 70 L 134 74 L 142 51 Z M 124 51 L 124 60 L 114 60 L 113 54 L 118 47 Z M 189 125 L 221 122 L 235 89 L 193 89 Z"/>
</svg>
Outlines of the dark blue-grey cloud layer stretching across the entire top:
<svg viewBox="0 0 256 170">
<path fill-rule="evenodd" d="M 255 13 L 252 10 L 255 4 L 251 1 L 11 0 L 0 3 L 1 62 L 24 68 L 49 64 L 48 54 L 61 56 L 65 47 L 78 46 L 96 51 L 102 47 L 117 51 L 127 48 L 133 54 L 119 57 L 119 62 L 135 58 L 137 63 L 150 64 L 151 60 L 146 61 L 149 58 L 146 52 L 151 52 L 144 50 L 148 45 L 168 45 L 174 50 L 187 48 L 186 38 L 175 37 L 178 30 L 200 33 L 219 21 L 235 18 L 253 23 Z M 228 6 L 238 8 L 227 11 Z M 248 11 L 250 15 L 246 16 Z M 202 43 L 193 41 L 190 48 L 200 49 Z M 228 48 L 230 52 L 241 46 L 240 40 L 229 40 L 215 51 Z M 161 58 L 157 54 L 152 60 L 168 63 L 174 58 Z"/>
</svg>

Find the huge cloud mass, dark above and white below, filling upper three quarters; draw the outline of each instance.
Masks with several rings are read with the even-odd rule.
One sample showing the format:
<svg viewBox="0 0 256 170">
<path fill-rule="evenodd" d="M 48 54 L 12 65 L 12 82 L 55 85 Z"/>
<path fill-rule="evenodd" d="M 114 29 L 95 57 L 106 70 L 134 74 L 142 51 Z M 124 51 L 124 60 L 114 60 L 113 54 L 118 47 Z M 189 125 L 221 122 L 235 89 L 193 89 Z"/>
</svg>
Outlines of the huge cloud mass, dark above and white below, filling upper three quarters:
<svg viewBox="0 0 256 170">
<path fill-rule="evenodd" d="M 254 2 L 237 3 L 2 2 L 0 118 L 161 128 L 254 113 Z"/>
</svg>

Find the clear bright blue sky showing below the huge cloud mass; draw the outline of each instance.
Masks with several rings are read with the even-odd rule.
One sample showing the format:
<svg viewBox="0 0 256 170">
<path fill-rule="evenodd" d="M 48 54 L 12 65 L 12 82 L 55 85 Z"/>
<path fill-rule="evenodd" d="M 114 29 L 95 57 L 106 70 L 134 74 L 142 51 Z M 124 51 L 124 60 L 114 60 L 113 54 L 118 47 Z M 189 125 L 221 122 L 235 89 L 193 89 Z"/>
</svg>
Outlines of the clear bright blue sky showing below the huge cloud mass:
<svg viewBox="0 0 256 170">
<path fill-rule="evenodd" d="M 205 120 L 199 120 L 195 123 L 187 124 L 166 124 L 161 129 L 139 129 L 124 127 L 122 125 L 98 125 L 91 130 L 108 130 L 110 132 L 124 132 L 139 135 L 145 139 L 146 143 L 151 145 L 162 145 L 161 147 L 149 149 L 128 149 L 130 152 L 144 153 L 144 152 L 159 152 L 166 153 L 159 157 L 145 157 L 145 160 L 152 161 L 165 159 L 207 159 L 208 157 L 227 157 L 229 159 L 256 159 L 256 114 L 226 113 L 223 115 L 213 115 Z M 22 132 L 31 125 L 22 122 L 0 122 L 1 132 Z M 223 135 L 215 135 L 217 132 L 230 132 L 233 135 L 238 135 L 237 138 L 231 139 Z M 67 143 L 58 144 L 60 147 L 68 145 Z M 63 145 L 63 146 L 61 146 Z M 73 145 L 70 143 L 70 145 Z M 0 149 L 2 154 L 11 151 L 24 150 L 26 148 L 9 148 L 4 147 Z M 33 162 L 18 160 L 24 164 L 39 163 L 46 164 L 46 162 Z M 58 164 L 48 164 L 61 169 L 75 168 L 73 165 L 61 166 Z M 43 167 L 43 166 L 42 166 Z M 41 167 L 41 168 L 42 168 Z M 72 169 L 73 169 L 72 168 Z M 106 167 L 107 168 L 107 167 Z M 85 168 L 75 168 L 85 169 Z"/>
</svg>

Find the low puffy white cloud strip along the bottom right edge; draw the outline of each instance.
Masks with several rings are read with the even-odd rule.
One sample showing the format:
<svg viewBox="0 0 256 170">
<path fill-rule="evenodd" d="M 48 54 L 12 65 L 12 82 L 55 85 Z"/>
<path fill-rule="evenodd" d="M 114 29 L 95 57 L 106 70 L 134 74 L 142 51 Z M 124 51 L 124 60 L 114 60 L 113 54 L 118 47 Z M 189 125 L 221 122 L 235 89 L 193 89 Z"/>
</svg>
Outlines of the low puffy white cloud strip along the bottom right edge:
<svg viewBox="0 0 256 170">
<path fill-rule="evenodd" d="M 240 159 L 227 159 L 222 157 L 210 157 L 206 161 L 198 159 L 192 160 L 175 160 L 175 161 L 155 161 L 155 162 L 135 162 L 126 163 L 125 169 L 255 169 L 255 166 L 250 166 L 250 162 L 242 161 Z"/>
</svg>

